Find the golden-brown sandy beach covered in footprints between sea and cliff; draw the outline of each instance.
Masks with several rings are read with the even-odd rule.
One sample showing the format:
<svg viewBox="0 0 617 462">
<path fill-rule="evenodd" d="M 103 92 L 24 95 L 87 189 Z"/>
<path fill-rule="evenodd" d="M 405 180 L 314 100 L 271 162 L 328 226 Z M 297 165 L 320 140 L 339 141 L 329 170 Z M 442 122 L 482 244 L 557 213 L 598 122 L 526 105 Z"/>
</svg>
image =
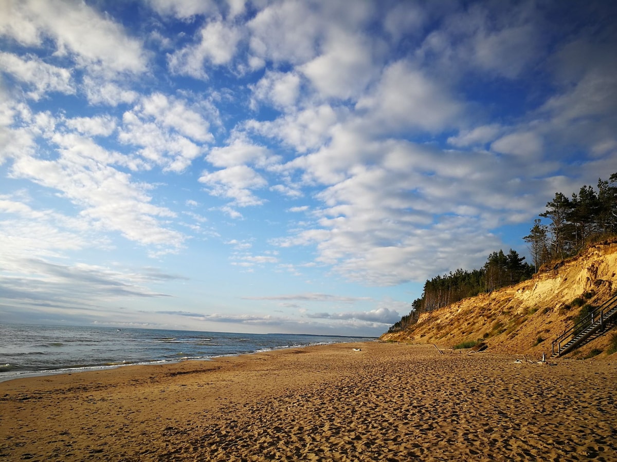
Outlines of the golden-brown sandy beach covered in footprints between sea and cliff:
<svg viewBox="0 0 617 462">
<path fill-rule="evenodd" d="M 617 460 L 617 361 L 515 359 L 369 342 L 17 379 L 0 460 Z"/>
</svg>

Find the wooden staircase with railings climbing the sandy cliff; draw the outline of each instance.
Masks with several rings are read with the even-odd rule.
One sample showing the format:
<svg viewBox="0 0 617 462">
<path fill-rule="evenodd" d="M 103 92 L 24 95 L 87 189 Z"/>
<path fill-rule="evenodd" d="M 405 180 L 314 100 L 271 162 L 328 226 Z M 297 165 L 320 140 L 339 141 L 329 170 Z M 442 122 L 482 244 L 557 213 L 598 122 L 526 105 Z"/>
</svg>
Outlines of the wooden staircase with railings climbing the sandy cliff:
<svg viewBox="0 0 617 462">
<path fill-rule="evenodd" d="M 589 315 L 558 336 L 551 345 L 553 358 L 586 344 L 601 334 L 607 324 L 613 322 L 615 318 L 617 318 L 617 294 L 595 307 Z"/>
</svg>

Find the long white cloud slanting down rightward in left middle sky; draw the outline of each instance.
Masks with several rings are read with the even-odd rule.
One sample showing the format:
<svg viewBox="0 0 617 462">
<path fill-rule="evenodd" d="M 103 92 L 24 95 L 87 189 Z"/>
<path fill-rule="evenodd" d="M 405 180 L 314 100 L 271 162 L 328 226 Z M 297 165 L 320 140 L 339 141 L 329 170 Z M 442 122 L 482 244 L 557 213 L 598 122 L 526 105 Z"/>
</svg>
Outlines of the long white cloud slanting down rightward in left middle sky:
<svg viewBox="0 0 617 462">
<path fill-rule="evenodd" d="M 59 192 L 80 210 L 81 227 L 117 231 L 131 241 L 159 249 L 177 249 L 184 236 L 167 228 L 160 217 L 173 217 L 167 208 L 152 205 L 145 183 L 136 184 L 114 164 L 135 168 L 131 156 L 109 152 L 91 139 L 53 130 L 56 121 L 36 114 L 27 128 L 30 136 L 47 139 L 52 156 L 35 150 L 13 154 L 9 177 L 27 179 Z M 148 229 L 148 233 L 143 230 Z"/>
</svg>

